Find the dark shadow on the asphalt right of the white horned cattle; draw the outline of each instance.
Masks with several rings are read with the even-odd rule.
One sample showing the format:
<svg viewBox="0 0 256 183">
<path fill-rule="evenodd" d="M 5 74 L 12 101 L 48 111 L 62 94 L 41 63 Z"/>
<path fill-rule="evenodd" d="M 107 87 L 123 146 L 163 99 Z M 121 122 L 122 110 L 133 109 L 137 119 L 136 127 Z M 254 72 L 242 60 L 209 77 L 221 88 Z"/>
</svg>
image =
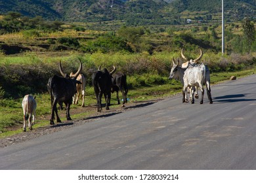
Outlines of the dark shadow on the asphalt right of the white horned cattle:
<svg viewBox="0 0 256 183">
<path fill-rule="evenodd" d="M 246 95 L 251 93 L 245 93 L 245 94 L 235 94 L 235 95 L 223 95 L 219 97 L 213 97 L 214 102 L 219 103 L 235 103 L 235 102 L 242 102 L 242 101 L 256 101 L 256 99 L 244 99 L 242 97 L 245 97 Z"/>
</svg>

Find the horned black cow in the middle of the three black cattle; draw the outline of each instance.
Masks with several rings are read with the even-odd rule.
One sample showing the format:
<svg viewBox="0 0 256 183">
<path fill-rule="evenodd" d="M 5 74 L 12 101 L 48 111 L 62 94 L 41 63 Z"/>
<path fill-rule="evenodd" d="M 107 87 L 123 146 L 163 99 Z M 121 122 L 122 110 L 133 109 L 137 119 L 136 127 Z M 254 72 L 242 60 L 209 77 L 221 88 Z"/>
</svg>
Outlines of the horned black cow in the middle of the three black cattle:
<svg viewBox="0 0 256 183">
<path fill-rule="evenodd" d="M 98 71 L 93 73 L 92 82 L 95 90 L 98 112 L 102 111 L 101 99 L 103 94 L 106 101 L 106 110 L 110 109 L 112 74 L 116 71 L 116 67 L 113 67 L 114 69 L 110 73 L 106 68 L 100 71 L 100 67 L 98 67 Z"/>
</svg>

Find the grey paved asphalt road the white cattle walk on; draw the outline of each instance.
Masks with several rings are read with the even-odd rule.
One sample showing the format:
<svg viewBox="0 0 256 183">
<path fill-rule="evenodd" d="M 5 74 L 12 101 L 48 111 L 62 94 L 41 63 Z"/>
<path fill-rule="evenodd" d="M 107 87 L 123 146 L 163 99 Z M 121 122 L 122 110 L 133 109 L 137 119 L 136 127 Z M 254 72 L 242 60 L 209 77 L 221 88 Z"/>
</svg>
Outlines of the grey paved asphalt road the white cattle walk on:
<svg viewBox="0 0 256 183">
<path fill-rule="evenodd" d="M 256 169 L 256 75 L 0 148 L 0 169 Z"/>
</svg>

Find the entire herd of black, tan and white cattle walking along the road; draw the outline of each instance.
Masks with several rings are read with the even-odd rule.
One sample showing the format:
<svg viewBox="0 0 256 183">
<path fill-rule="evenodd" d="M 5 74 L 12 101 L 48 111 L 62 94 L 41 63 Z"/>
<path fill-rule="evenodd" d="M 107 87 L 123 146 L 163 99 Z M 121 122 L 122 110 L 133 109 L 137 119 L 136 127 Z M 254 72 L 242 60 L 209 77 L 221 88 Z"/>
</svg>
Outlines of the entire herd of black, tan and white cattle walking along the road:
<svg viewBox="0 0 256 183">
<path fill-rule="evenodd" d="M 196 93 L 195 97 L 198 98 L 198 88 L 202 92 L 202 98 L 200 104 L 203 103 L 204 89 L 203 85 L 206 86 L 207 97 L 209 103 L 213 103 L 211 99 L 211 88 L 210 88 L 210 74 L 207 65 L 199 63 L 200 59 L 203 56 L 203 52 L 200 49 L 200 56 L 196 59 L 188 60 L 183 54 L 183 48 L 181 50 L 181 56 L 186 61 L 179 65 L 179 59 L 175 63 L 173 58 L 173 67 L 171 68 L 171 73 L 169 79 L 174 78 L 179 80 L 182 83 L 182 103 L 188 103 L 187 90 L 190 92 L 190 101 L 194 103 L 194 92 Z M 121 91 L 123 95 L 123 105 L 127 103 L 127 81 L 126 75 L 123 73 L 116 73 L 116 67 L 113 66 L 113 70 L 108 72 L 106 68 L 100 70 L 101 65 L 98 67 L 98 70 L 93 72 L 92 82 L 93 88 L 95 90 L 96 102 L 97 102 L 97 111 L 102 111 L 102 95 L 104 95 L 106 101 L 106 110 L 109 110 L 111 93 L 116 92 L 117 102 L 120 104 L 118 92 Z M 81 95 L 82 97 L 82 107 L 85 106 L 85 76 L 81 74 L 82 63 L 79 59 L 79 69 L 77 72 L 70 73 L 67 75 L 62 69 L 61 62 L 59 63 L 59 70 L 62 76 L 54 75 L 49 78 L 47 84 L 48 92 L 51 95 L 51 120 L 50 124 L 54 124 L 54 114 L 56 114 L 56 122 L 60 123 L 60 118 L 58 116 L 57 103 L 62 107 L 62 103 L 66 105 L 66 118 L 67 120 L 72 120 L 70 118 L 70 105 L 72 103 L 77 104 L 78 98 Z M 22 108 L 24 113 L 24 130 L 26 131 L 26 120 L 28 120 L 28 127 L 32 129 L 32 125 L 35 122 L 35 108 L 37 107 L 35 97 L 32 95 L 26 95 L 22 101 Z"/>
</svg>

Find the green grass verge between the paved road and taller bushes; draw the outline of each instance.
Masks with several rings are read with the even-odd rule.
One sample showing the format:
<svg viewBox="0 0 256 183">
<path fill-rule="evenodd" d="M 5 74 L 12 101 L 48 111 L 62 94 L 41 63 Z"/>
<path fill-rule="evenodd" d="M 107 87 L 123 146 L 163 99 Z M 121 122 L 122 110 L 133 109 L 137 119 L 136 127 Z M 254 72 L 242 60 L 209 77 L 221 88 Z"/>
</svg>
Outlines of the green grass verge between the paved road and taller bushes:
<svg viewBox="0 0 256 183">
<path fill-rule="evenodd" d="M 229 80 L 230 76 L 234 75 L 237 78 L 252 75 L 256 72 L 256 65 L 253 65 L 250 69 L 236 72 L 222 72 L 211 73 L 211 84 L 217 84 L 225 80 Z M 164 79 L 168 79 L 167 77 Z M 169 97 L 176 93 L 181 92 L 181 84 L 175 80 L 171 80 L 168 84 L 162 85 L 150 85 L 146 87 L 136 88 L 129 90 L 128 97 L 129 103 L 136 101 L 150 101 L 152 99 L 160 97 Z M 87 118 L 95 114 L 95 96 L 93 88 L 86 88 L 85 96 L 85 108 L 81 108 L 77 105 L 72 105 L 72 118 Z M 49 114 L 51 114 L 51 102 L 47 93 L 37 94 L 37 114 L 36 124 L 33 128 L 44 127 L 49 125 Z M 5 107 L 0 107 L 0 139 L 10 137 L 17 133 L 22 133 L 22 99 L 12 99 L 8 101 L 1 100 L 1 103 L 6 103 Z M 112 104 L 116 104 L 116 93 L 112 94 Z M 2 105 L 3 106 L 3 105 Z M 112 105 L 111 108 L 119 108 L 119 105 Z M 64 111 L 60 112 L 62 120 L 64 118 Z"/>
</svg>

